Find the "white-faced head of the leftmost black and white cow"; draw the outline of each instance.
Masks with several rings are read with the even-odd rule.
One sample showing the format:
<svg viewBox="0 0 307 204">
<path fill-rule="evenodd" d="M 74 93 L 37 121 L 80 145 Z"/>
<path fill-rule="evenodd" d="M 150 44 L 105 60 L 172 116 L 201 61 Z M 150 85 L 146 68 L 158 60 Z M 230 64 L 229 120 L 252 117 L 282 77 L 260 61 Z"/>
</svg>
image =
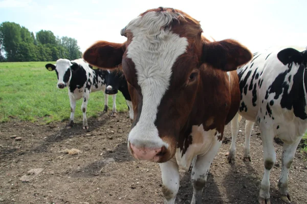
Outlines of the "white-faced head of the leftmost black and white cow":
<svg viewBox="0 0 307 204">
<path fill-rule="evenodd" d="M 49 71 L 55 70 L 58 79 L 57 87 L 60 89 L 69 84 L 72 78 L 72 71 L 77 71 L 80 68 L 77 63 L 68 59 L 58 59 L 55 64 L 46 64 L 45 67 Z"/>
</svg>

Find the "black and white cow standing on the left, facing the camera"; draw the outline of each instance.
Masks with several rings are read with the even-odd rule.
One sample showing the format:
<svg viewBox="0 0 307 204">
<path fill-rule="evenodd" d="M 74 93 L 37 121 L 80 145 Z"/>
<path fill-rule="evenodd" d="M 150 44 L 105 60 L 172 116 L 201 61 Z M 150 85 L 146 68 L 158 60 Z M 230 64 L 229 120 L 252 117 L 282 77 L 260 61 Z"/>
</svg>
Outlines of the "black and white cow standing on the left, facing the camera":
<svg viewBox="0 0 307 204">
<path fill-rule="evenodd" d="M 70 99 L 71 115 L 68 128 L 73 126 L 74 114 L 76 109 L 76 100 L 83 98 L 81 110 L 83 112 L 83 129 L 88 129 L 86 119 L 86 108 L 91 92 L 105 91 L 105 77 L 109 73 L 106 70 L 94 70 L 83 59 L 70 61 L 68 59 L 58 59 L 56 64 L 46 64 L 49 71 L 55 70 L 60 89 L 68 87 Z M 116 111 L 115 97 L 113 95 L 113 112 Z M 104 112 L 107 111 L 108 95 L 104 93 Z M 115 107 L 115 109 L 114 109 Z"/>
</svg>

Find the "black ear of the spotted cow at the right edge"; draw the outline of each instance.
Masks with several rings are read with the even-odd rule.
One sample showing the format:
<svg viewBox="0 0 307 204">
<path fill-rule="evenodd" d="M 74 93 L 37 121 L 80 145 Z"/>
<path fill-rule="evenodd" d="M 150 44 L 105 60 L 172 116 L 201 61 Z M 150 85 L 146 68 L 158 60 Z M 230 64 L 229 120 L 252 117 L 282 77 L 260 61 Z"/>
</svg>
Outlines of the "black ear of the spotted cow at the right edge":
<svg viewBox="0 0 307 204">
<path fill-rule="evenodd" d="M 286 49 L 282 49 L 282 50 L 279 51 L 279 53 L 277 54 L 277 58 L 284 65 L 290 64 L 290 63 L 293 63 L 293 62 L 301 64 L 304 60 L 304 57 L 303 57 L 304 52 L 300 53 L 296 49 L 286 48 Z"/>
</svg>

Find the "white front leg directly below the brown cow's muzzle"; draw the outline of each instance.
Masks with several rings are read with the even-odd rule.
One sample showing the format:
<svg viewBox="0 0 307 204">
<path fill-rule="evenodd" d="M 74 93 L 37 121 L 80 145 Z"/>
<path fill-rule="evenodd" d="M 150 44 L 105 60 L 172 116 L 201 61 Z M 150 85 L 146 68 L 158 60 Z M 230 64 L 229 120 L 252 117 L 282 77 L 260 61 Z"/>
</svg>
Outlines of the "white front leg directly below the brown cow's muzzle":
<svg viewBox="0 0 307 204">
<path fill-rule="evenodd" d="M 164 204 L 173 204 L 179 190 L 179 168 L 177 161 L 172 158 L 159 165 L 162 173 Z"/>
</svg>

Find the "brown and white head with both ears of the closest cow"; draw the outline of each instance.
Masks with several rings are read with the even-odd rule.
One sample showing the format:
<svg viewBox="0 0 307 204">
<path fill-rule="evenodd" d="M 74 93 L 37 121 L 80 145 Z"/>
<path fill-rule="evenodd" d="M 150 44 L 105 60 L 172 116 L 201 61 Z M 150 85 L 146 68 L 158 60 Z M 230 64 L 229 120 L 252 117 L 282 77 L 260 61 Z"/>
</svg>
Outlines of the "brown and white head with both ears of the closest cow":
<svg viewBox="0 0 307 204">
<path fill-rule="evenodd" d="M 135 117 L 128 149 L 137 159 L 165 162 L 177 148 L 206 67 L 235 70 L 252 55 L 234 40 L 210 42 L 199 21 L 171 9 L 148 10 L 130 21 L 124 43 L 99 41 L 83 58 L 92 65 L 122 64 Z"/>
</svg>

